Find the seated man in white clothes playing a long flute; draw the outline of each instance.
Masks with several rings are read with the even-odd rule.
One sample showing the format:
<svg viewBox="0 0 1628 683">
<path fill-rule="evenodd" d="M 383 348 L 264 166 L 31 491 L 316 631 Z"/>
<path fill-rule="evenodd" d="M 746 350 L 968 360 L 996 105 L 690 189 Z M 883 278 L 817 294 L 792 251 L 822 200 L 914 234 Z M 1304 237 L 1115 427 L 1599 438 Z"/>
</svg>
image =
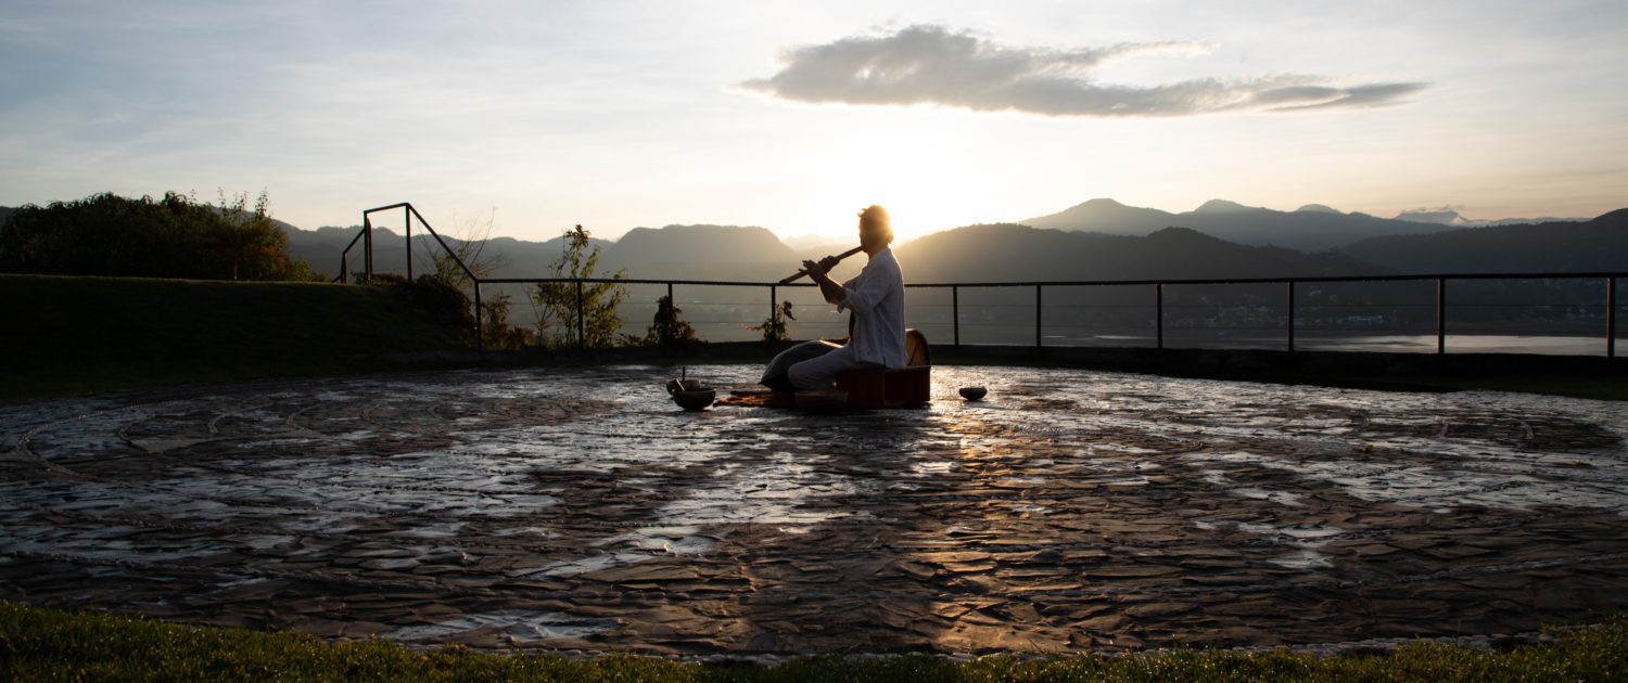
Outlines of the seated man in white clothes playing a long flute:
<svg viewBox="0 0 1628 683">
<path fill-rule="evenodd" d="M 851 312 L 848 343 L 835 346 L 829 342 L 809 342 L 793 346 L 775 356 L 762 384 L 777 390 L 830 389 L 837 372 L 845 369 L 905 366 L 905 278 L 889 249 L 892 241 L 894 228 L 887 210 L 871 205 L 860 211 L 860 249 L 869 257 L 860 275 L 837 283 L 827 272 L 837 265 L 838 257 L 803 262 L 803 270 L 819 285 L 825 301 L 837 304 L 837 311 Z M 786 374 L 780 376 L 788 363 Z"/>
</svg>

